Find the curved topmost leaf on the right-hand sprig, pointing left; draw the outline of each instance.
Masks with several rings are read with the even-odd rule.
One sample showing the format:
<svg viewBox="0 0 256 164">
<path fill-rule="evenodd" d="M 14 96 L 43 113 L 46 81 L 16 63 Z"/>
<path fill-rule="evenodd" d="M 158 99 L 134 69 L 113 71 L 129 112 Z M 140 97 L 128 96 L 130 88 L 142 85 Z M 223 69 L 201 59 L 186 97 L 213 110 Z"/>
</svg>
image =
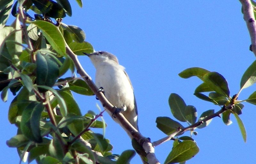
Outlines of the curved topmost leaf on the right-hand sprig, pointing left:
<svg viewBox="0 0 256 164">
<path fill-rule="evenodd" d="M 192 77 L 192 76 L 196 76 L 196 77 L 200 78 L 201 80 L 203 80 L 204 75 L 209 73 L 209 72 L 210 71 L 208 71 L 204 68 L 192 67 L 192 68 L 185 69 L 184 71 L 179 73 L 179 76 L 184 78 L 184 79 L 187 79 L 187 78 Z"/>
</svg>

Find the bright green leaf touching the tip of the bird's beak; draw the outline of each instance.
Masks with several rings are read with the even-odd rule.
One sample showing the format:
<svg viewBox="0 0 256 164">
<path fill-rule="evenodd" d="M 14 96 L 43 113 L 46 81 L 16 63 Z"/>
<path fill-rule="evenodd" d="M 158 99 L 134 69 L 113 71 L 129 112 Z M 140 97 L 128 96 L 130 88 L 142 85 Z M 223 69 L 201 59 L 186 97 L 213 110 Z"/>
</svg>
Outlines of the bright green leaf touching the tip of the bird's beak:
<svg viewBox="0 0 256 164">
<path fill-rule="evenodd" d="M 85 53 L 92 53 L 93 52 L 93 47 L 89 42 L 71 42 L 68 44 L 70 49 L 76 54 L 76 55 L 84 55 L 83 52 Z"/>
</svg>

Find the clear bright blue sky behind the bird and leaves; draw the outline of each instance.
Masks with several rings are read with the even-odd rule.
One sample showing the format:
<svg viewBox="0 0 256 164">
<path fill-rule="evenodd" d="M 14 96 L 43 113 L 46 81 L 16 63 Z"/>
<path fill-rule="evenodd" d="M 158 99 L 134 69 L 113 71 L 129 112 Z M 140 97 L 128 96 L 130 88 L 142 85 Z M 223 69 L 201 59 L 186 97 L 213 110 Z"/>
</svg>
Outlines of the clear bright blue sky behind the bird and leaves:
<svg viewBox="0 0 256 164">
<path fill-rule="evenodd" d="M 135 91 L 139 111 L 140 132 L 156 141 L 165 137 L 156 128 L 157 116 L 172 114 L 168 105 L 171 93 L 179 94 L 187 105 L 196 106 L 198 116 L 206 110 L 219 110 L 218 106 L 196 98 L 193 93 L 201 83 L 197 78 L 182 79 L 178 74 L 189 67 L 203 67 L 217 71 L 228 81 L 231 95 L 240 88 L 240 79 L 255 56 L 249 51 L 250 37 L 238 0 L 215 1 L 84 1 L 79 8 L 71 3 L 73 16 L 63 22 L 81 27 L 86 41 L 96 51 L 108 51 L 117 56 L 126 67 Z M 10 22 L 9 22 L 10 23 Z M 95 69 L 90 60 L 79 56 L 84 69 L 94 79 Z M 242 91 L 239 99 L 247 98 L 255 86 Z M 98 112 L 95 96 L 74 94 L 82 113 Z M 16 127 L 7 120 L 8 106 L 12 100 L 1 102 L 0 163 L 18 163 L 16 149 L 5 142 L 16 134 Z M 204 129 L 196 129 L 200 151 L 187 163 L 254 163 L 256 107 L 244 103 L 243 120 L 247 143 L 243 142 L 235 118 L 226 126 L 214 118 Z M 107 113 L 106 137 L 113 144 L 113 153 L 132 149 L 126 133 Z M 174 118 L 173 118 L 174 119 Z M 186 124 L 184 124 L 185 126 Z M 189 135 L 189 132 L 186 133 Z M 172 149 L 172 141 L 156 147 L 158 160 L 163 163 Z M 136 155 L 132 164 L 141 163 Z"/>
</svg>

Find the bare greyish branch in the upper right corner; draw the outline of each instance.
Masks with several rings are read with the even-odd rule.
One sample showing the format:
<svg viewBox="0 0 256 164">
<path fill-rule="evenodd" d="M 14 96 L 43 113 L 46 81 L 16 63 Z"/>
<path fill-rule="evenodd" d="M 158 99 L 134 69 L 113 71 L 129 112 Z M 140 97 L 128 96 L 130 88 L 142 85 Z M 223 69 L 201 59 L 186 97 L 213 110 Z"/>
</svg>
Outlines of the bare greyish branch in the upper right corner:
<svg viewBox="0 0 256 164">
<path fill-rule="evenodd" d="M 253 12 L 253 5 L 250 0 L 239 0 L 242 4 L 242 10 L 244 12 L 244 20 L 246 22 L 247 28 L 251 37 L 250 50 L 256 56 L 256 22 Z"/>
</svg>

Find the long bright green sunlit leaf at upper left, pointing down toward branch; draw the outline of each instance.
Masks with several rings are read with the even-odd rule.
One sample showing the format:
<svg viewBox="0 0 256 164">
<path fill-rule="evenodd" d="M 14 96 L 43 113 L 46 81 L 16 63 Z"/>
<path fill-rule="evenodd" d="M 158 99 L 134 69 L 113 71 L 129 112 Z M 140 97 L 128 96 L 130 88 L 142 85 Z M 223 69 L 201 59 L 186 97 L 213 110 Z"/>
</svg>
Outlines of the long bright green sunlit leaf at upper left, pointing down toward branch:
<svg viewBox="0 0 256 164">
<path fill-rule="evenodd" d="M 65 40 L 58 27 L 43 20 L 36 20 L 32 23 L 42 31 L 44 37 L 56 52 L 62 56 L 66 56 Z"/>
</svg>

